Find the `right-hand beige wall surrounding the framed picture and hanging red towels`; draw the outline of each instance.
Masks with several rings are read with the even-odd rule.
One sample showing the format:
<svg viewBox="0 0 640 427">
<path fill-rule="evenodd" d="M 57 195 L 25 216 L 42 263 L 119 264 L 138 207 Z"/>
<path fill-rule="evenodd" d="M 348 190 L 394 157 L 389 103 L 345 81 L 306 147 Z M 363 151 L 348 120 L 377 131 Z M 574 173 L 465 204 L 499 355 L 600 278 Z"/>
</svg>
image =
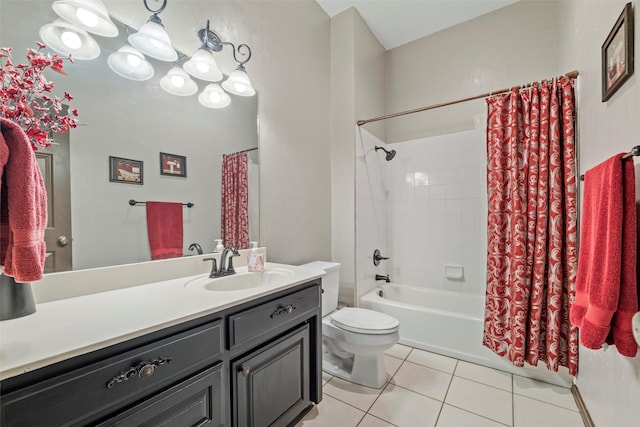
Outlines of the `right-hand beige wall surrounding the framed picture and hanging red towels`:
<svg viewBox="0 0 640 427">
<path fill-rule="evenodd" d="M 578 79 L 579 167 L 590 169 L 640 144 L 640 4 L 635 9 L 636 71 L 607 102 L 601 102 L 600 47 L 625 1 L 562 1 L 559 7 L 559 65 L 580 71 Z M 640 160 L 636 187 L 640 188 Z M 633 260 L 630 260 L 633 262 Z M 580 347 L 577 385 L 596 426 L 637 426 L 640 420 L 640 356 L 626 358 L 615 348 Z"/>
</svg>

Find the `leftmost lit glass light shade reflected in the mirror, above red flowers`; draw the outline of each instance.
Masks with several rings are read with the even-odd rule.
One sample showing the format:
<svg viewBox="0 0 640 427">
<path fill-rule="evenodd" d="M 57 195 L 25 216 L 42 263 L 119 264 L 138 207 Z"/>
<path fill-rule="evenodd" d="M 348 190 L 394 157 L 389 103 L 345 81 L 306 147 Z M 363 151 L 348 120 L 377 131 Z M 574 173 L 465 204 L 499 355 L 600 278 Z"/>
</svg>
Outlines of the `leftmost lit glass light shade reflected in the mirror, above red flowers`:
<svg viewBox="0 0 640 427">
<path fill-rule="evenodd" d="M 100 46 L 89 33 L 62 19 L 43 25 L 39 33 L 48 47 L 73 59 L 89 61 L 100 55 Z"/>
</svg>

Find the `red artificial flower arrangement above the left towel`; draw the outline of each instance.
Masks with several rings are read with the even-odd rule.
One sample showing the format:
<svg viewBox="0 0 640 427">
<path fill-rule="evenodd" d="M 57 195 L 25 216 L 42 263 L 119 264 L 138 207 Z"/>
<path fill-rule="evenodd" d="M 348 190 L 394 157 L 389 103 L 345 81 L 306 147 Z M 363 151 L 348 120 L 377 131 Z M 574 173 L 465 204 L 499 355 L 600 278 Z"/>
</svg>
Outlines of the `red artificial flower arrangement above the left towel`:
<svg viewBox="0 0 640 427">
<path fill-rule="evenodd" d="M 53 142 L 52 132 L 65 133 L 77 125 L 78 110 L 61 114 L 62 100 L 51 94 L 55 83 L 47 80 L 44 70 L 67 75 L 63 59 L 56 54 L 44 54 L 46 46 L 36 42 L 38 50 L 27 50 L 28 64 L 14 64 L 12 48 L 0 49 L 0 117 L 22 127 L 31 141 L 33 150 L 47 148 Z M 71 63 L 71 57 L 67 58 Z M 65 92 L 66 101 L 73 97 Z"/>
</svg>

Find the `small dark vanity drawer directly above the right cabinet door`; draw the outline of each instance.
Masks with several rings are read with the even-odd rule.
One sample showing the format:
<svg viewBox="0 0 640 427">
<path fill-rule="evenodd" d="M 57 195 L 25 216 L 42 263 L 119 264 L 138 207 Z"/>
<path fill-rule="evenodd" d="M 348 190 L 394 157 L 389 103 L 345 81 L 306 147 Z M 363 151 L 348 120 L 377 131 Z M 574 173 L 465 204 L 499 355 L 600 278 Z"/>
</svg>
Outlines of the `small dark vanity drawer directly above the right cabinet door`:
<svg viewBox="0 0 640 427">
<path fill-rule="evenodd" d="M 320 286 L 313 286 L 229 315 L 229 349 L 289 325 L 320 307 Z"/>
</svg>

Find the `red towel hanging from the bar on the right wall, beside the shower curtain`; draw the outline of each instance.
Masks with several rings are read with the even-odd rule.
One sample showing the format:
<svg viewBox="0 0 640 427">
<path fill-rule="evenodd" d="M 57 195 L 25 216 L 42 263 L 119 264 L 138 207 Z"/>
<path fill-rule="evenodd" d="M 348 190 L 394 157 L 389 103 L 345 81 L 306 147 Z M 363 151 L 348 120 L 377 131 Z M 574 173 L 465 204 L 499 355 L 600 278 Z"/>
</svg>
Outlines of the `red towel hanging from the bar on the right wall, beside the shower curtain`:
<svg viewBox="0 0 640 427">
<path fill-rule="evenodd" d="M 636 286 L 635 170 L 624 153 L 585 173 L 576 298 L 571 323 L 580 342 L 604 342 L 634 357 L 631 317 L 638 311 Z"/>
</svg>

